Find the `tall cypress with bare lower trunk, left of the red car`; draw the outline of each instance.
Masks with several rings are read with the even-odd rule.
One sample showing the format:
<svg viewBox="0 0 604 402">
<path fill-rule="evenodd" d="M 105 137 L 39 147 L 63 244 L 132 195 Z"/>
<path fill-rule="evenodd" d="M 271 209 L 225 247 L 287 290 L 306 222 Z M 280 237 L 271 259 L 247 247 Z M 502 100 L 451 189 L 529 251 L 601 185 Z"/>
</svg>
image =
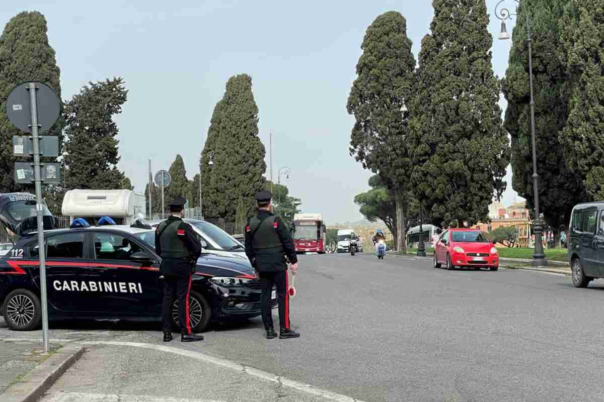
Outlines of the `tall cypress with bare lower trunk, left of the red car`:
<svg viewBox="0 0 604 402">
<path fill-rule="evenodd" d="M 412 97 L 416 61 L 406 35 L 406 20 L 397 11 L 378 16 L 367 28 L 356 64 L 347 110 L 355 116 L 350 154 L 365 169 L 379 172 L 394 193 L 397 209 L 397 250 L 406 253 L 405 216 L 408 209 L 409 111 L 403 106 Z"/>
</svg>

